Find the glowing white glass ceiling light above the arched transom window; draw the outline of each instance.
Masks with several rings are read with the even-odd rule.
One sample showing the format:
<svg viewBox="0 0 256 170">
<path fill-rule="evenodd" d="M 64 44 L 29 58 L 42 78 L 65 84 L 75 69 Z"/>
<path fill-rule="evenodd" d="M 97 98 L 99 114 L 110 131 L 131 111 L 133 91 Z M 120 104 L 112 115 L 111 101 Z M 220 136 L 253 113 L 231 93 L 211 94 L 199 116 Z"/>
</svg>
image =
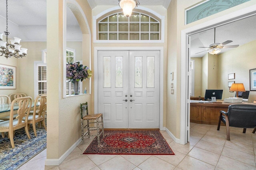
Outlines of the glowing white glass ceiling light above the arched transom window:
<svg viewBox="0 0 256 170">
<path fill-rule="evenodd" d="M 118 5 L 123 9 L 124 16 L 126 17 L 130 17 L 132 10 L 139 4 L 138 0 L 118 0 Z"/>
</svg>

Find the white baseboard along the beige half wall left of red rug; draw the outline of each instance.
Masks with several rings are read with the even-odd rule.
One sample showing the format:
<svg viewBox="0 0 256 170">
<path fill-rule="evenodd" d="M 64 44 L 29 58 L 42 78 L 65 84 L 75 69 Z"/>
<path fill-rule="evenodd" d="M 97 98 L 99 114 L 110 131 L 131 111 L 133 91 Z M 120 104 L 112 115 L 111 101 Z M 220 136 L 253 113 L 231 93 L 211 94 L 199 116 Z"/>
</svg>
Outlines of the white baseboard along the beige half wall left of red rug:
<svg viewBox="0 0 256 170">
<path fill-rule="evenodd" d="M 63 162 L 66 157 L 79 145 L 79 143 L 82 141 L 82 138 L 78 139 L 76 143 L 74 143 L 60 158 L 58 159 L 46 159 L 45 165 L 46 166 L 54 166 L 54 165 L 60 165 L 61 162 Z M 46 151 L 47 152 L 47 151 Z"/>
</svg>

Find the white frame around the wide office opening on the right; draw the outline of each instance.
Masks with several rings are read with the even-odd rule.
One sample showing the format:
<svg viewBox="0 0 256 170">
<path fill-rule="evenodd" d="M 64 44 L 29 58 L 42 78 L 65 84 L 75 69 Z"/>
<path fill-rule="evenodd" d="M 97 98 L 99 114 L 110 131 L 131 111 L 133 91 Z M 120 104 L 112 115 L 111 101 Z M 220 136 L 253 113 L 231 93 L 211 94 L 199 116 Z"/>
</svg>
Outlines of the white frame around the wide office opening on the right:
<svg viewBox="0 0 256 170">
<path fill-rule="evenodd" d="M 188 36 L 192 35 L 196 32 L 203 31 L 206 29 L 210 29 L 216 26 L 224 25 L 236 20 L 241 20 L 242 18 L 246 18 L 248 16 L 254 15 L 256 13 L 256 5 L 252 5 L 250 7 L 244 8 L 242 10 L 238 10 L 236 12 L 232 12 L 225 16 L 221 16 L 219 18 L 215 18 L 210 21 L 206 21 L 204 23 L 195 25 L 188 29 L 184 29 L 181 31 L 181 74 L 180 74 L 180 144 L 187 143 L 187 135 L 188 135 L 188 102 L 186 96 L 188 96 L 188 82 L 186 78 L 188 76 L 188 67 L 186 66 L 186 61 L 188 61 Z"/>
</svg>

